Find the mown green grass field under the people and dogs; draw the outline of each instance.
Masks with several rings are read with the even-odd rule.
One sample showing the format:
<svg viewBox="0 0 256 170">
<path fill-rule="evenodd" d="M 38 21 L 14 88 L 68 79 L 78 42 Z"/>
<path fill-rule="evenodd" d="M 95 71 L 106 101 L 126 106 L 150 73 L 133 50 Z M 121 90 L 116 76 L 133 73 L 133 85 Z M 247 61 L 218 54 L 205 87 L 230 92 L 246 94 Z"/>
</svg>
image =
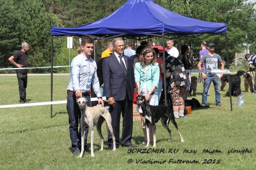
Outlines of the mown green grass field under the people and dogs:
<svg viewBox="0 0 256 170">
<path fill-rule="evenodd" d="M 197 75 L 196 75 L 197 76 Z M 0 77 L 0 105 L 18 104 L 19 91 L 16 76 Z M 68 76 L 54 76 L 53 100 L 65 100 Z M 243 82 L 243 79 L 242 79 Z M 202 83 L 198 83 L 197 96 L 201 102 Z M 241 85 L 244 91 L 244 85 Z M 100 138 L 94 134 L 94 158 L 85 153 L 82 159 L 72 155 L 68 130 L 68 114 L 65 104 L 53 105 L 53 118 L 50 118 L 50 106 L 16 107 L 0 109 L 0 167 L 1 169 L 255 169 L 255 99 L 256 95 L 243 92 L 245 105 L 233 106 L 230 111 L 229 97 L 223 97 L 225 107 L 215 105 L 213 85 L 208 97 L 209 109 L 193 110 L 192 115 L 176 120 L 180 137 L 173 125 L 173 141 L 168 141 L 168 133 L 158 122 L 156 147 L 168 152 L 171 148 L 177 153 L 127 153 L 128 148 L 120 147 L 115 152 L 100 149 Z M 50 101 L 50 76 L 29 76 L 27 88 L 28 102 Z M 232 97 L 233 102 L 236 97 Z M 122 122 L 121 122 L 122 125 Z M 102 128 L 107 139 L 106 126 Z M 90 133 L 89 133 L 90 136 Z M 90 137 L 88 137 L 90 146 Z M 143 141 L 139 121 L 133 122 L 133 144 Z M 144 148 L 144 147 L 138 147 Z M 151 147 L 150 147 L 151 148 Z M 197 150 L 196 154 L 183 153 L 184 149 Z M 231 153 L 230 149 L 248 148 L 252 153 Z M 204 149 L 221 150 L 222 153 L 202 153 Z M 133 159 L 132 163 L 127 163 Z M 136 159 L 167 160 L 163 164 L 136 164 Z M 198 160 L 193 164 L 168 164 L 169 159 Z M 219 164 L 202 164 L 204 159 L 221 159 Z"/>
</svg>

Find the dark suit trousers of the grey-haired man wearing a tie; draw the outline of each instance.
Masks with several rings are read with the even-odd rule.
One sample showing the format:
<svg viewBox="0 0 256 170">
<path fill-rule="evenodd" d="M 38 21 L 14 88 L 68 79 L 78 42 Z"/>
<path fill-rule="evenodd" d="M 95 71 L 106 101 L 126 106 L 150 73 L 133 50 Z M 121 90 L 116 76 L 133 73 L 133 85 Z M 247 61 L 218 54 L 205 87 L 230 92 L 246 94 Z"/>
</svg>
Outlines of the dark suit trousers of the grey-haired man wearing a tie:
<svg viewBox="0 0 256 170">
<path fill-rule="evenodd" d="M 129 100 L 127 92 L 124 100 L 115 101 L 115 105 L 109 106 L 109 112 L 111 115 L 111 125 L 113 133 L 116 138 L 116 146 L 119 146 L 119 134 L 120 134 L 120 116 L 122 112 L 123 116 L 123 128 L 122 128 L 122 144 L 130 145 L 132 140 L 132 101 Z M 111 135 L 108 135 L 108 146 L 113 147 L 113 139 Z"/>
</svg>

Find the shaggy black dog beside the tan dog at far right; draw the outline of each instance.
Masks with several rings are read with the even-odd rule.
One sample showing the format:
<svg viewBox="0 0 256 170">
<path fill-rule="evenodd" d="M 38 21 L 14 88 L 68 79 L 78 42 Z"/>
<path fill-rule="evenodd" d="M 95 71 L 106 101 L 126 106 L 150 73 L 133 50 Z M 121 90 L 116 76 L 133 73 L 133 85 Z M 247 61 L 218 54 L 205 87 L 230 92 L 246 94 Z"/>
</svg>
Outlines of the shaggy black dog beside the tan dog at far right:
<svg viewBox="0 0 256 170">
<path fill-rule="evenodd" d="M 232 96 L 238 96 L 241 93 L 241 76 L 245 73 L 243 70 L 238 70 L 235 75 L 230 75 L 229 88 L 231 89 Z M 228 78 L 227 78 L 228 81 Z M 225 96 L 230 96 L 229 88 Z"/>
</svg>

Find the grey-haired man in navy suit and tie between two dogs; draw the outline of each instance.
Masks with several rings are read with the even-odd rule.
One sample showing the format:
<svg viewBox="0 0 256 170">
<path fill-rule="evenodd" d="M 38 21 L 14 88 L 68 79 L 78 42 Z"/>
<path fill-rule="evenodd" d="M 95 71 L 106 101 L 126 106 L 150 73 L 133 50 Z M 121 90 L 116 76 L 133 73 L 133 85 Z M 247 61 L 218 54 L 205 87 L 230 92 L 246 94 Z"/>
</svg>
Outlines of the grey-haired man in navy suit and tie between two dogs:
<svg viewBox="0 0 256 170">
<path fill-rule="evenodd" d="M 122 146 L 132 145 L 132 100 L 134 74 L 132 59 L 123 55 L 124 41 L 115 38 L 112 41 L 115 52 L 103 60 L 103 82 L 106 98 L 110 105 L 109 112 L 112 119 L 112 128 L 116 137 L 116 147 L 119 146 L 120 116 L 123 116 Z M 113 139 L 108 135 L 108 148 L 113 148 Z"/>
</svg>

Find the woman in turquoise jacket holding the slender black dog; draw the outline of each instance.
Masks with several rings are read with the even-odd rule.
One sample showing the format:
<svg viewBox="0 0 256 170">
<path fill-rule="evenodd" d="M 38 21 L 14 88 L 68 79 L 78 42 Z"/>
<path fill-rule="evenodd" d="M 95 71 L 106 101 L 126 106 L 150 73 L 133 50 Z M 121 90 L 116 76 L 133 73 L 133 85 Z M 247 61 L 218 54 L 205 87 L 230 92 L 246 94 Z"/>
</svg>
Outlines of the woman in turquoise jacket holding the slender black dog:
<svg viewBox="0 0 256 170">
<path fill-rule="evenodd" d="M 150 48 L 144 48 L 140 53 L 140 62 L 135 64 L 134 67 L 134 78 L 137 85 L 136 91 L 138 95 L 145 96 L 145 99 L 150 105 L 155 105 L 156 96 L 154 90 L 158 87 L 160 70 L 158 63 L 156 63 L 156 53 Z M 140 113 L 141 126 L 144 133 L 145 140 L 141 145 L 147 144 L 147 132 L 145 122 L 143 121 L 142 110 L 137 108 L 137 112 Z M 149 141 L 152 144 L 153 141 L 153 129 L 152 125 L 149 126 Z"/>
</svg>

